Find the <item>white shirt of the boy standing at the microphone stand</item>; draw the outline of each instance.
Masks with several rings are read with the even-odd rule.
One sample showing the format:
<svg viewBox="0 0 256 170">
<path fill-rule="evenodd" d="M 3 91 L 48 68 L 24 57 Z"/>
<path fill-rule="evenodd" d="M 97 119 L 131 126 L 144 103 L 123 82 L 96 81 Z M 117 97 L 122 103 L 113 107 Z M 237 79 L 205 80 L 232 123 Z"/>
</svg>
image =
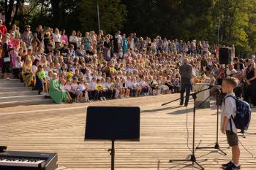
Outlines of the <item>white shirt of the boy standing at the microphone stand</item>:
<svg viewBox="0 0 256 170">
<path fill-rule="evenodd" d="M 221 121 L 220 121 L 220 128 L 222 128 L 224 117 L 230 118 L 231 115 L 233 115 L 233 117 L 236 117 L 236 101 L 233 97 L 227 97 L 227 96 L 236 97 L 234 93 L 229 93 L 225 96 L 225 103 L 224 103 L 224 101 L 222 103 L 222 115 L 221 115 Z M 237 133 L 236 125 L 232 119 L 231 119 L 231 123 L 232 123 L 233 132 Z M 226 131 L 231 131 L 230 130 L 230 120 L 228 120 L 228 122 L 227 122 Z"/>
</svg>

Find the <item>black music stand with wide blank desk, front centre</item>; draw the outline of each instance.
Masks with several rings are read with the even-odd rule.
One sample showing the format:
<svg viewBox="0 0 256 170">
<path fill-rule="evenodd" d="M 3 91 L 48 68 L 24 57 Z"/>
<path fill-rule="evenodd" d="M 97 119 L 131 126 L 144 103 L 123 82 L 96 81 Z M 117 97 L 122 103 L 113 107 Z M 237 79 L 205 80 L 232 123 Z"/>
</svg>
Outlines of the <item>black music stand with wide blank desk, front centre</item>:
<svg viewBox="0 0 256 170">
<path fill-rule="evenodd" d="M 110 140 L 111 170 L 115 169 L 115 141 L 140 141 L 139 107 L 88 107 L 85 140 Z"/>
</svg>

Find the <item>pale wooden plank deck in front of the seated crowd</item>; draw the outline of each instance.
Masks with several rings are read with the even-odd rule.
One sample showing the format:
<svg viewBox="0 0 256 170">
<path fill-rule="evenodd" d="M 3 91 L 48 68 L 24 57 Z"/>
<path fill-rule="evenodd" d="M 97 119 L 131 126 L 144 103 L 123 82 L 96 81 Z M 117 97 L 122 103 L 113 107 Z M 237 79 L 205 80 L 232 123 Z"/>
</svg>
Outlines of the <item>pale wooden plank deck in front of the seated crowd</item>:
<svg viewBox="0 0 256 170">
<path fill-rule="evenodd" d="M 86 107 L 89 105 L 138 106 L 141 109 L 140 142 L 116 142 L 117 170 L 169 170 L 197 169 L 190 163 L 169 163 L 169 159 L 184 159 L 190 154 L 187 147 L 186 119 L 188 118 L 189 147 L 192 149 L 192 104 L 178 107 L 178 102 L 165 107 L 160 105 L 178 95 L 129 98 L 101 101 L 91 104 L 48 104 L 0 109 L 0 145 L 9 150 L 58 152 L 59 169 L 105 170 L 110 169 L 110 142 L 84 142 Z M 197 109 L 196 146 L 214 146 L 216 141 L 217 109 L 212 102 L 210 109 Z M 256 117 L 253 110 L 249 132 L 256 133 Z M 244 146 L 256 155 L 256 135 L 241 138 Z M 225 136 L 219 133 L 219 144 L 227 147 Z M 196 150 L 205 169 L 220 169 L 229 161 L 216 150 Z M 256 169 L 256 159 L 241 147 L 242 169 Z"/>
</svg>

